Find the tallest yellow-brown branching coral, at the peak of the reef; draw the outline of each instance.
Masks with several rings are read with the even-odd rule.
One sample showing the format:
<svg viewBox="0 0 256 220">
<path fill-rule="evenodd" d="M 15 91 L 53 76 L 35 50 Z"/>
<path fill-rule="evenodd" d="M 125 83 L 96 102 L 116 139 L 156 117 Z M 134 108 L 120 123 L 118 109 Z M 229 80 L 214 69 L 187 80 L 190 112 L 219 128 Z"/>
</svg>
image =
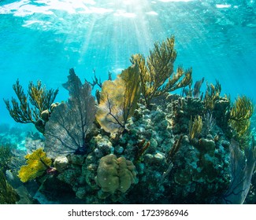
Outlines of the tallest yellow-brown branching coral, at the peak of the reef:
<svg viewBox="0 0 256 220">
<path fill-rule="evenodd" d="M 164 42 L 156 42 L 154 49 L 150 50 L 147 61 L 142 54 L 131 57 L 132 64 L 138 64 L 142 94 L 147 107 L 153 97 L 172 92 L 191 83 L 191 68 L 184 71 L 179 67 L 173 72 L 173 63 L 176 60 L 174 49 L 174 36 Z"/>
</svg>

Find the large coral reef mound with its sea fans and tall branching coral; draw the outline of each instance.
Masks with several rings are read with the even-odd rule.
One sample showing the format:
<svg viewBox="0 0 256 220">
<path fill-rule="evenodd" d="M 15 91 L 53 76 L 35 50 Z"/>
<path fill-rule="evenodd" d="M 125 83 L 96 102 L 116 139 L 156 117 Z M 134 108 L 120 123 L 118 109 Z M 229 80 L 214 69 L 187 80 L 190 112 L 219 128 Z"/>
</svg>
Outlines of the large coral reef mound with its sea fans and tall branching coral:
<svg viewBox="0 0 256 220">
<path fill-rule="evenodd" d="M 203 97 L 204 78 L 192 89 L 191 69 L 174 73 L 175 60 L 172 37 L 147 60 L 133 55 L 114 80 L 81 83 L 70 69 L 69 100 L 41 112 L 44 137 L 25 140 L 30 154 L 19 177 L 28 182 L 11 181 L 6 160 L 8 180 L 39 203 L 253 203 L 252 102 L 238 97 L 231 108 L 218 82 Z M 185 97 L 169 93 L 184 86 Z M 23 94 L 19 83 L 17 90 Z"/>
</svg>

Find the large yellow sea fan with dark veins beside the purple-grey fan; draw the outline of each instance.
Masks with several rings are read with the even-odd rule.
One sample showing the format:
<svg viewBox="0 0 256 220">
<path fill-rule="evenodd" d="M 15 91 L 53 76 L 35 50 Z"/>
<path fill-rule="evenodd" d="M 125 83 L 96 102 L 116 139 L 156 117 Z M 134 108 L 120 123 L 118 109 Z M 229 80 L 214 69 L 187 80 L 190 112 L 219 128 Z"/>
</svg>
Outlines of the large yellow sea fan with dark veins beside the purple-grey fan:
<svg viewBox="0 0 256 220">
<path fill-rule="evenodd" d="M 139 94 L 137 65 L 125 69 L 117 79 L 104 82 L 96 113 L 96 119 L 102 128 L 107 132 L 123 131 L 135 112 Z"/>
</svg>

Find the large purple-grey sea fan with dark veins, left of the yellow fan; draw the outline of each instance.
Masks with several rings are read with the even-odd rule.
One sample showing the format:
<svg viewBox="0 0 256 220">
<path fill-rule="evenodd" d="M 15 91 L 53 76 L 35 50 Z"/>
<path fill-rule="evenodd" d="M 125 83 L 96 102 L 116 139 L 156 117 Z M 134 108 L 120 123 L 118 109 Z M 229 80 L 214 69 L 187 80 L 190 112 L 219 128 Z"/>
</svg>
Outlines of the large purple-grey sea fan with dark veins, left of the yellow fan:
<svg viewBox="0 0 256 220">
<path fill-rule="evenodd" d="M 81 83 L 73 69 L 68 82 L 62 86 L 69 90 L 69 101 L 54 108 L 46 123 L 45 151 L 48 156 L 85 153 L 86 134 L 95 120 L 95 99 L 89 83 Z"/>
</svg>

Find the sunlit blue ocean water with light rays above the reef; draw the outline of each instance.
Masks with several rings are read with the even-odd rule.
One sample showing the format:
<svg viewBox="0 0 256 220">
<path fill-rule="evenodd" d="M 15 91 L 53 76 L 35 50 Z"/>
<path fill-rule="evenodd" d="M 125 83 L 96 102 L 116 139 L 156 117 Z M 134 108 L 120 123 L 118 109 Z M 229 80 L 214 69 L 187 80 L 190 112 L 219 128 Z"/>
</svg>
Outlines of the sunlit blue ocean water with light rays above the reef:
<svg viewBox="0 0 256 220">
<path fill-rule="evenodd" d="M 192 67 L 194 82 L 217 79 L 222 94 L 256 100 L 254 0 L 0 1 L 0 123 L 13 123 L 2 99 L 15 96 L 17 79 L 24 88 L 40 79 L 67 100 L 69 68 L 103 81 L 170 35 L 176 67 Z"/>
</svg>

